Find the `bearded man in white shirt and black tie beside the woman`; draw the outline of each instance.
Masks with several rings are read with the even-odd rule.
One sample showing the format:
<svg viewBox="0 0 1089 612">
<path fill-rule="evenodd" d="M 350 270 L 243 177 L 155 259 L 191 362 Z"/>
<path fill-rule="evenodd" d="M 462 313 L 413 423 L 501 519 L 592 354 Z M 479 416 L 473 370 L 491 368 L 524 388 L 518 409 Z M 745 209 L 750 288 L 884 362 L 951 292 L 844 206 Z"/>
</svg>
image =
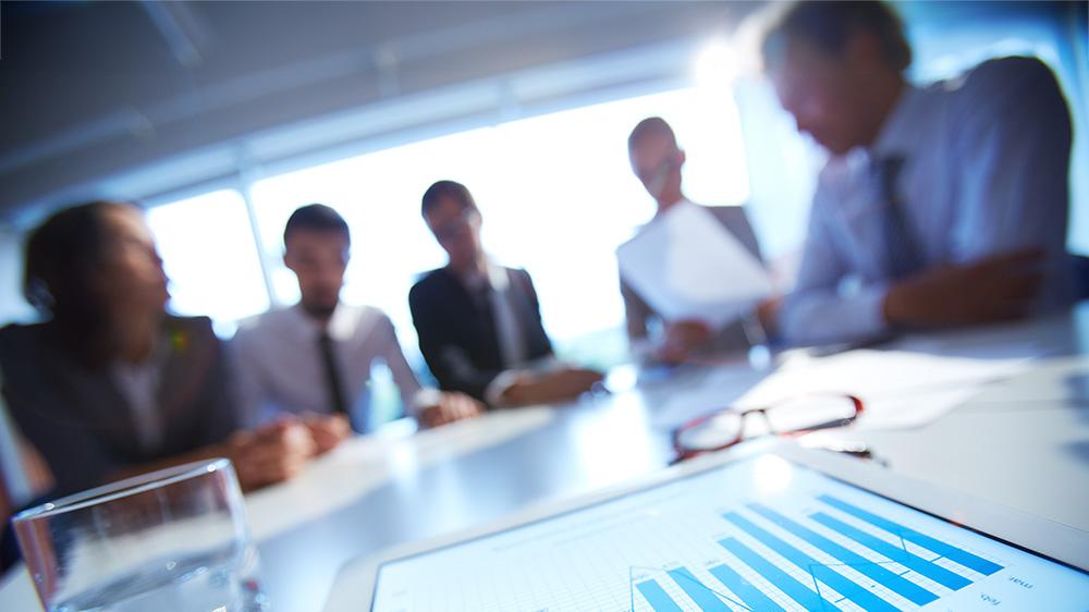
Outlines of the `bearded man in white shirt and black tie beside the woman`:
<svg viewBox="0 0 1089 612">
<path fill-rule="evenodd" d="M 340 415 L 339 426 L 325 436 L 334 445 L 350 433 L 350 423 L 357 430 L 369 425 L 365 403 L 376 362 L 392 372 L 406 413 L 425 425 L 479 414 L 481 406 L 470 397 L 420 385 L 384 313 L 340 301 L 350 247 L 347 223 L 328 206 L 304 206 L 287 220 L 284 264 L 295 272 L 302 299 L 243 325 L 234 338 L 247 419 Z"/>
</svg>

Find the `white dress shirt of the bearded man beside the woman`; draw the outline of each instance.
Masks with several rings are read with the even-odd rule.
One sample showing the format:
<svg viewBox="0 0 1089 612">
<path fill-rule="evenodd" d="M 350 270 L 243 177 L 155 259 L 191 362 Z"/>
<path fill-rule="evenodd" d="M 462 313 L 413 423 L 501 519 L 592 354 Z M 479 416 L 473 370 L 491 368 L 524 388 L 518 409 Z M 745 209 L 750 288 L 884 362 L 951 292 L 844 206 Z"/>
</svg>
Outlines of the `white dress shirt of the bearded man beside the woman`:
<svg viewBox="0 0 1089 612">
<path fill-rule="evenodd" d="M 322 328 L 298 305 L 265 313 L 240 327 L 231 345 L 238 400 L 248 426 L 280 413 L 332 412 L 318 348 Z M 367 387 L 376 362 L 390 368 L 408 414 L 415 416 L 433 397 L 433 390 L 420 387 L 405 360 L 393 322 L 378 308 L 341 304 L 327 329 L 334 343 L 342 391 L 357 427 L 369 423 Z"/>
</svg>

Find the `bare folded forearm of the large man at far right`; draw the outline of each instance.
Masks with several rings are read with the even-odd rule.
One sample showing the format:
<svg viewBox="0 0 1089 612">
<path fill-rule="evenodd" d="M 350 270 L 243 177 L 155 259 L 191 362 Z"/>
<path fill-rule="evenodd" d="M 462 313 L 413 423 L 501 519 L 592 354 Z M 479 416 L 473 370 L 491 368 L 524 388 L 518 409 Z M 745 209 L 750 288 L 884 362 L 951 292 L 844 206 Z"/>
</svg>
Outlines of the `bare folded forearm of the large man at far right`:
<svg viewBox="0 0 1089 612">
<path fill-rule="evenodd" d="M 1042 261 L 1030 249 L 927 270 L 889 290 L 885 320 L 938 328 L 1019 319 L 1039 293 Z"/>
</svg>

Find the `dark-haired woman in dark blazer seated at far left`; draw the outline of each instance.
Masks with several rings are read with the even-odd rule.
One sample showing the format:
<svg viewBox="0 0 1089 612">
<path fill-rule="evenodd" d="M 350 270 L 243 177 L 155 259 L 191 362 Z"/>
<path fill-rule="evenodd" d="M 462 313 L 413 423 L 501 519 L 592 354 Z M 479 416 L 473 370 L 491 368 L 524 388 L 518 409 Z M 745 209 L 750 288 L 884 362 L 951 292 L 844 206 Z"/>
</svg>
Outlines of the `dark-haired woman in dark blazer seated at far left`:
<svg viewBox="0 0 1089 612">
<path fill-rule="evenodd" d="M 46 321 L 0 330 L 3 393 L 56 494 L 213 456 L 253 489 L 314 454 L 299 421 L 236 431 L 222 345 L 207 318 L 167 313 L 162 260 L 135 206 L 50 217 L 27 243 L 24 291 Z"/>
</svg>

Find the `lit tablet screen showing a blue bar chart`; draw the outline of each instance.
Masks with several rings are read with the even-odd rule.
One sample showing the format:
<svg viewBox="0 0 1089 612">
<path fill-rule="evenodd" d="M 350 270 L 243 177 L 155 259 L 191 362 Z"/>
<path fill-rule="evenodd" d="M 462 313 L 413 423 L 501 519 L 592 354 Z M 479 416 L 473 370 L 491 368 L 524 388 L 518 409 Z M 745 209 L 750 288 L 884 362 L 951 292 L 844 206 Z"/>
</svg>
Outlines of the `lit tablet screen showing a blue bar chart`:
<svg viewBox="0 0 1089 612">
<path fill-rule="evenodd" d="M 774 455 L 382 564 L 379 612 L 1064 610 L 1089 575 Z"/>
</svg>

